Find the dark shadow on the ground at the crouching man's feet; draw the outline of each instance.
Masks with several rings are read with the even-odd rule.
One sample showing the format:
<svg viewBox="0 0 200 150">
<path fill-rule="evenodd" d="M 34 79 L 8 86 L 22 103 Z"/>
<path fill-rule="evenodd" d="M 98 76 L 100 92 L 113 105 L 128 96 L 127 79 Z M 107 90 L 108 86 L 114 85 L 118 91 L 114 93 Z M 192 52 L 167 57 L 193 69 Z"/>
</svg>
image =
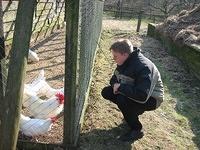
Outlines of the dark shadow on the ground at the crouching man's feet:
<svg viewBox="0 0 200 150">
<path fill-rule="evenodd" d="M 93 129 L 87 133 L 82 133 L 78 145 L 78 150 L 133 150 L 133 143 L 121 142 L 117 139 L 119 135 L 127 131 L 125 123 L 111 129 Z M 81 144 L 88 143 L 88 144 Z"/>
</svg>

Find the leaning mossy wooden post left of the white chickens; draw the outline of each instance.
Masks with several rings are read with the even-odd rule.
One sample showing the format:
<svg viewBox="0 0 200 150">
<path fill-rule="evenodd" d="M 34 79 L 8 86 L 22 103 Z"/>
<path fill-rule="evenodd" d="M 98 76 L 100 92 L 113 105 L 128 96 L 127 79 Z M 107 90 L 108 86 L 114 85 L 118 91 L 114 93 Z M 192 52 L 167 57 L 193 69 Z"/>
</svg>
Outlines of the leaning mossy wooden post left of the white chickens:
<svg viewBox="0 0 200 150">
<path fill-rule="evenodd" d="M 5 92 L 1 150 L 16 149 L 24 90 L 24 68 L 27 64 L 35 3 L 36 0 L 20 0 L 18 4 Z"/>
</svg>

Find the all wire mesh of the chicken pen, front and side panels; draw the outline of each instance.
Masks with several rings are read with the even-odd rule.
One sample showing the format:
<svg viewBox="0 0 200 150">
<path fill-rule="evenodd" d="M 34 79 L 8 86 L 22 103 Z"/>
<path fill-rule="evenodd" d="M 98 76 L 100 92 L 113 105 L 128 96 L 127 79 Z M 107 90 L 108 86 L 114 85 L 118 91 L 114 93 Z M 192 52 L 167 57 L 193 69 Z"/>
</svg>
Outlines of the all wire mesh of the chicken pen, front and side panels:
<svg viewBox="0 0 200 150">
<path fill-rule="evenodd" d="M 5 96 L 9 60 L 13 59 L 8 55 L 5 57 L 5 52 L 8 53 L 5 45 L 12 44 L 12 42 L 9 43 L 9 39 L 12 41 L 13 38 L 18 2 L 3 1 L 2 4 L 5 5 L 0 7 L 0 18 L 2 19 L 0 20 L 0 25 L 2 25 L 0 26 L 2 39 L 0 43 L 0 108 L 4 106 L 3 96 Z M 37 144 L 40 142 L 48 144 L 52 141 L 55 141 L 54 144 L 62 144 L 63 142 L 63 119 L 57 120 L 63 116 L 64 109 L 65 52 L 62 39 L 65 38 L 65 31 L 62 30 L 61 33 L 58 33 L 59 36 L 56 32 L 51 36 L 47 36 L 47 33 L 52 33 L 64 21 L 64 6 L 63 0 L 55 2 L 47 0 L 39 1 L 35 7 L 31 41 L 36 41 L 36 43 L 31 44 L 33 49 L 27 50 L 29 63 L 25 66 L 27 76 L 25 84 L 22 86 L 23 108 L 19 117 L 20 140 L 28 140 Z M 8 12 L 9 14 L 13 13 L 12 17 L 9 17 L 10 20 L 5 17 Z M 75 129 L 73 143 L 75 144 L 79 137 L 85 99 L 89 93 L 93 62 L 101 33 L 102 14 L 103 1 L 80 1 L 78 59 L 72 60 L 78 62 L 76 111 L 73 124 Z M 41 35 L 44 35 L 42 38 L 46 39 L 41 40 L 39 38 Z M 52 40 L 52 43 L 47 43 L 49 40 Z M 40 50 L 41 47 L 37 45 L 46 46 L 46 48 Z M 46 72 L 48 72 L 48 80 Z M 5 113 L 2 112 L 3 110 L 5 109 L 1 109 L 0 115 Z M 54 132 L 57 135 L 52 136 Z"/>
</svg>

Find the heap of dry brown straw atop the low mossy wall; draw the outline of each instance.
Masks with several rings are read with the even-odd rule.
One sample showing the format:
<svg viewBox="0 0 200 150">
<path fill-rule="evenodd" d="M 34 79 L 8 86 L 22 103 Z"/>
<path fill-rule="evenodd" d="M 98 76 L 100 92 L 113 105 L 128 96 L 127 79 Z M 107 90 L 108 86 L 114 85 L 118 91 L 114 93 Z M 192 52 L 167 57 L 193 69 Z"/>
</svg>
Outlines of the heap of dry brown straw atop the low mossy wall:
<svg viewBox="0 0 200 150">
<path fill-rule="evenodd" d="M 200 5 L 168 17 L 156 27 L 158 32 L 171 37 L 179 44 L 200 44 Z"/>
</svg>

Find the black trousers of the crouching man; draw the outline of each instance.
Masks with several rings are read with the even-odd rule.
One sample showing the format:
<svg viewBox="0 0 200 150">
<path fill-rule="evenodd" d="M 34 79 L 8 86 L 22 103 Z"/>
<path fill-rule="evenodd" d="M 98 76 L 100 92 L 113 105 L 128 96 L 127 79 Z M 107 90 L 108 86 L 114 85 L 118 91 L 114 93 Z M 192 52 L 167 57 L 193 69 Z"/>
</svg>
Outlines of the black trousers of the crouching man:
<svg viewBox="0 0 200 150">
<path fill-rule="evenodd" d="M 113 94 L 113 88 L 111 86 L 103 88 L 101 95 L 103 98 L 117 104 L 124 119 L 132 130 L 142 129 L 142 124 L 138 118 L 139 115 L 143 114 L 144 111 L 156 109 L 156 100 L 153 97 L 150 97 L 145 104 L 140 104 L 123 95 Z"/>
</svg>

